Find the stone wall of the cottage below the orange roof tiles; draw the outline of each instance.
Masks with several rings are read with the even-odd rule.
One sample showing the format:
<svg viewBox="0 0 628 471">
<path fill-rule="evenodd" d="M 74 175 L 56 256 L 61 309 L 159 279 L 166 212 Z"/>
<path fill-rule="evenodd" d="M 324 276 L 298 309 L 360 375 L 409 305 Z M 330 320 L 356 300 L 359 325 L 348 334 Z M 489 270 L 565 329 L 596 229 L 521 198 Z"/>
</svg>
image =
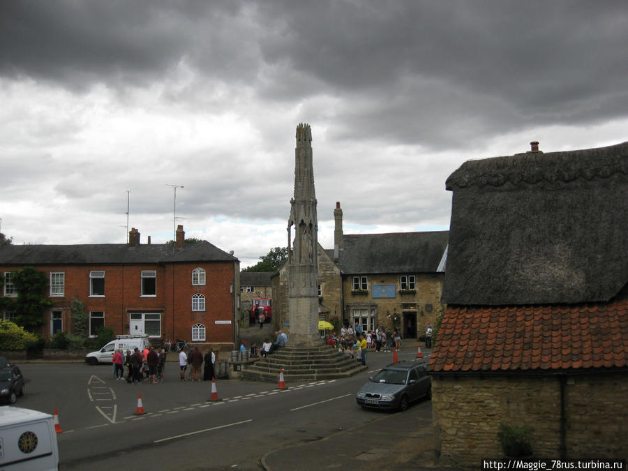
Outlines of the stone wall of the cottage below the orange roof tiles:
<svg viewBox="0 0 628 471">
<path fill-rule="evenodd" d="M 530 426 L 535 458 L 560 457 L 560 381 L 548 377 L 433 377 L 435 453 L 443 465 L 500 458 L 500 423 Z M 626 458 L 626 375 L 567 379 L 565 458 Z"/>
</svg>

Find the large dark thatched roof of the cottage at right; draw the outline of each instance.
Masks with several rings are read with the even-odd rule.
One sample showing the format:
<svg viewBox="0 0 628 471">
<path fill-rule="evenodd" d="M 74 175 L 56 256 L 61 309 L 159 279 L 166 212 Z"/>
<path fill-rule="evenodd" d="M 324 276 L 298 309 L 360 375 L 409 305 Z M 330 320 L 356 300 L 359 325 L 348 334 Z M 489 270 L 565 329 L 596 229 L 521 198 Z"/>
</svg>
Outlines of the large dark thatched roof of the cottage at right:
<svg viewBox="0 0 628 471">
<path fill-rule="evenodd" d="M 442 301 L 608 301 L 628 281 L 628 142 L 470 160 L 454 192 Z"/>
</svg>

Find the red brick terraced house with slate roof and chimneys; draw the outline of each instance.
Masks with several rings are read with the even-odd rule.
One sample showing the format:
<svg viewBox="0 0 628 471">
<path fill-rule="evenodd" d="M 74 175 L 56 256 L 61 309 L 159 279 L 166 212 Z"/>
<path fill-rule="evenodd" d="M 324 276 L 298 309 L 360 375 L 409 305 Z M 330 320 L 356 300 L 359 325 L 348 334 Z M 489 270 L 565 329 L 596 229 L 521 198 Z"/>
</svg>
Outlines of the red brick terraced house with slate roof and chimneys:
<svg viewBox="0 0 628 471">
<path fill-rule="evenodd" d="M 128 244 L 1 246 L 1 296 L 17 296 L 11 271 L 23 267 L 49 279 L 53 306 L 45 314 L 45 338 L 72 331 L 70 306 L 79 299 L 89 315 L 89 335 L 105 326 L 115 334 L 232 350 L 239 260 L 207 241 L 186 244 L 181 225 L 174 245 L 140 244 L 140 232 L 133 229 Z"/>
</svg>

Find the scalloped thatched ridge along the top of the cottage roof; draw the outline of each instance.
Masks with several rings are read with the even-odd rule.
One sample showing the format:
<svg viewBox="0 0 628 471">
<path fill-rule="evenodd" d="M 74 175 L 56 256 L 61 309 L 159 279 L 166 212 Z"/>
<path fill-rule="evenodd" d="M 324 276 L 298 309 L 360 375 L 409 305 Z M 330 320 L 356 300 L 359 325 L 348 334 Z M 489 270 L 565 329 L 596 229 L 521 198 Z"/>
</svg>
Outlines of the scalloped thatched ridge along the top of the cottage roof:
<svg viewBox="0 0 628 471">
<path fill-rule="evenodd" d="M 525 186 L 577 179 L 628 175 L 628 142 L 597 149 L 564 152 L 526 152 L 507 157 L 469 160 L 447 179 L 447 190 L 469 186 Z"/>
</svg>

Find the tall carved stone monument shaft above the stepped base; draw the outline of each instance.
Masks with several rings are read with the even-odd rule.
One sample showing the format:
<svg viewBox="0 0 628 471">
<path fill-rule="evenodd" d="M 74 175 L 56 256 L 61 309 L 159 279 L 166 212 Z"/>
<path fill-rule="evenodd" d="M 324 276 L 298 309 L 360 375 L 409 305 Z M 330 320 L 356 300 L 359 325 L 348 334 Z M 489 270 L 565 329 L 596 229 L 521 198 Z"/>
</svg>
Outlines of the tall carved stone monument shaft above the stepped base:
<svg viewBox="0 0 628 471">
<path fill-rule="evenodd" d="M 294 196 L 290 200 L 287 225 L 287 307 L 290 345 L 309 347 L 320 345 L 321 341 L 318 334 L 318 220 L 312 164 L 312 131 L 308 124 L 297 126 L 297 148 L 294 154 Z"/>
</svg>

